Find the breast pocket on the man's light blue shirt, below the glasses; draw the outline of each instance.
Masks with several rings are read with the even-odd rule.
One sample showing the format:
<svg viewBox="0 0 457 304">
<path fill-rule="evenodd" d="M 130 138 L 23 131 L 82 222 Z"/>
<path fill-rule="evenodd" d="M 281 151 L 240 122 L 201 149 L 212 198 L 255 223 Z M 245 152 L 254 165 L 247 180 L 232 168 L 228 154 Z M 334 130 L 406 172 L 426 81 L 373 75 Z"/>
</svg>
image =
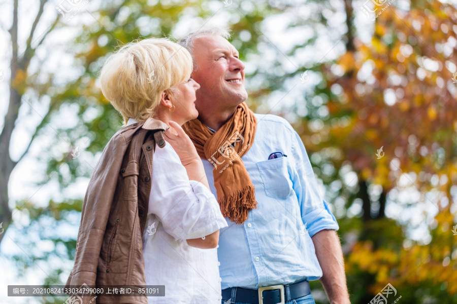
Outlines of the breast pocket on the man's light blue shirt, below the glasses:
<svg viewBox="0 0 457 304">
<path fill-rule="evenodd" d="M 287 157 L 257 163 L 268 197 L 285 200 L 292 195 L 292 182 L 287 171 Z"/>
</svg>

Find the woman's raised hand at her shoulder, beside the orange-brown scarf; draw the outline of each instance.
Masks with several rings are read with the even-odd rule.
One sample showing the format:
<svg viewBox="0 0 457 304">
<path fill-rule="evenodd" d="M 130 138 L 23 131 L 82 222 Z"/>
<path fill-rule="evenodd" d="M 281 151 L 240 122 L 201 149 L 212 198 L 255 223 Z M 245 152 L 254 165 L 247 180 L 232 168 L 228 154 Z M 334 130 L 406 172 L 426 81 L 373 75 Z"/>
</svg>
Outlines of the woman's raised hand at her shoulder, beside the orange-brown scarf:
<svg viewBox="0 0 457 304">
<path fill-rule="evenodd" d="M 195 161 L 201 162 L 197 149 L 195 149 L 195 146 L 189 136 L 184 132 L 181 126 L 173 121 L 170 121 L 169 124 L 170 127 L 177 132 L 177 134 L 175 134 L 175 132 L 173 132 L 170 128 L 164 133 L 165 140 L 170 143 L 176 151 L 182 165 L 186 167 Z"/>
</svg>

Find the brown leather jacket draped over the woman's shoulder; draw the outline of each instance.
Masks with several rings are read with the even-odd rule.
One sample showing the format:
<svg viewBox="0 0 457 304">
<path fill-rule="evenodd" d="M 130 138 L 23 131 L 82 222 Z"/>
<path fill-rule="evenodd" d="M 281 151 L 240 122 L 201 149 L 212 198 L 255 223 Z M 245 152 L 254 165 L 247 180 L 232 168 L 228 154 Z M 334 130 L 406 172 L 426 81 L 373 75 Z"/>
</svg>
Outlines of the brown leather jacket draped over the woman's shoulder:
<svg viewBox="0 0 457 304">
<path fill-rule="evenodd" d="M 81 212 L 75 265 L 67 285 L 146 285 L 142 235 L 156 143 L 168 126 L 148 119 L 122 128 L 97 163 Z M 92 297 L 82 297 L 83 303 Z M 146 296 L 97 296 L 95 303 L 147 304 Z"/>
</svg>

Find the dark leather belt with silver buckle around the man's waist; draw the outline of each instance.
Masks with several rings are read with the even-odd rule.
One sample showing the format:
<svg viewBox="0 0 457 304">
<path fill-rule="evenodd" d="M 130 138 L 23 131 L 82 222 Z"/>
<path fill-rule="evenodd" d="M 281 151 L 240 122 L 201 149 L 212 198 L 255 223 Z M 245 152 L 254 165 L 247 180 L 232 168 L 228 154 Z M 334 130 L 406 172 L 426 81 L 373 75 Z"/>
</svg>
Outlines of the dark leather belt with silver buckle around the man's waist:
<svg viewBox="0 0 457 304">
<path fill-rule="evenodd" d="M 289 288 L 289 293 L 286 292 L 287 286 Z M 234 299 L 231 298 L 233 288 L 237 288 Z M 260 292 L 262 292 L 262 299 L 259 298 Z M 225 288 L 222 289 L 222 299 L 224 301 L 231 299 L 231 303 L 244 302 L 251 304 L 277 304 L 286 303 L 310 293 L 311 289 L 308 281 L 302 280 L 288 285 L 265 286 L 260 287 L 259 289 L 243 287 Z"/>
</svg>

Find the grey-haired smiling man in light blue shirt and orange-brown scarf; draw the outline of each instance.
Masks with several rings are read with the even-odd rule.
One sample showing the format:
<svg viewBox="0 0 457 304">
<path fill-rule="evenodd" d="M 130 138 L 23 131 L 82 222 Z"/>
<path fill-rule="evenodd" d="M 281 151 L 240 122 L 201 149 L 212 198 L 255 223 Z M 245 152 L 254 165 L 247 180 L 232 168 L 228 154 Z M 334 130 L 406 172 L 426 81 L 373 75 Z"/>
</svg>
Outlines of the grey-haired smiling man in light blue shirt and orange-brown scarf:
<svg viewBox="0 0 457 304">
<path fill-rule="evenodd" d="M 221 302 L 314 303 L 320 279 L 331 303 L 349 303 L 338 224 L 290 124 L 246 105 L 244 64 L 227 30 L 207 27 L 179 44 L 200 84 L 198 119 L 184 125 L 228 227 L 218 245 Z"/>
</svg>

